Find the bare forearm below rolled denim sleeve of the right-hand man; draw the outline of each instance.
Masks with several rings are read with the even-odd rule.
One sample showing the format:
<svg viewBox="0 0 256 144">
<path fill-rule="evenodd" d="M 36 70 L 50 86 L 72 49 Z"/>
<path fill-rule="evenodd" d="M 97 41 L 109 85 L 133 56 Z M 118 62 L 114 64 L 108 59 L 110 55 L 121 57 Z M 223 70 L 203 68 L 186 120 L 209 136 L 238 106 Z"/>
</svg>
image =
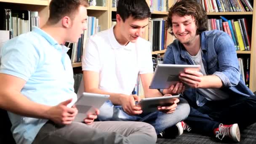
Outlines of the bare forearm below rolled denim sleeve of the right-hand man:
<svg viewBox="0 0 256 144">
<path fill-rule="evenodd" d="M 221 88 L 221 79 L 216 75 L 207 75 L 202 77 L 202 84 L 200 88 Z"/>
</svg>

